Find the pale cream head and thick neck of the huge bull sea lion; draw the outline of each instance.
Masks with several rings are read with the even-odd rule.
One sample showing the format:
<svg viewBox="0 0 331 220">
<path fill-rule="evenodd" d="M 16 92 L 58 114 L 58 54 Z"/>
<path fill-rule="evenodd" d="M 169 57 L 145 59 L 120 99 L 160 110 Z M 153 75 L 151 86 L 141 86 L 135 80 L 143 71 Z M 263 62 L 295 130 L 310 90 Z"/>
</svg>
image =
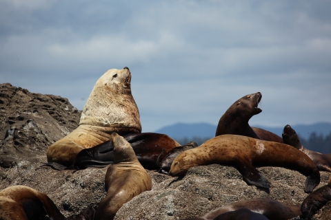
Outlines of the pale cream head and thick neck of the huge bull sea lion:
<svg viewBox="0 0 331 220">
<path fill-rule="evenodd" d="M 141 132 L 139 110 L 131 94 L 128 67 L 109 69 L 95 83 L 81 113 L 79 125 L 112 127 Z"/>
</svg>

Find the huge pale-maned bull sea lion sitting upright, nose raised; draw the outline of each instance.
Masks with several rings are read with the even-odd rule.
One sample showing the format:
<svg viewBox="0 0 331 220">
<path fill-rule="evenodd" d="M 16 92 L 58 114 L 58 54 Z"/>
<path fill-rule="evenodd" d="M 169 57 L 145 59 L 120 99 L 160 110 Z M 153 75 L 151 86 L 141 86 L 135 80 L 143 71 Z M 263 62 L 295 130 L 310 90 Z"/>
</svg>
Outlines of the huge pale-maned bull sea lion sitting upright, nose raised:
<svg viewBox="0 0 331 220">
<path fill-rule="evenodd" d="M 139 110 L 130 82 L 128 67 L 103 74 L 85 104 L 78 128 L 48 148 L 48 162 L 70 166 L 79 151 L 106 142 L 112 132 L 140 133 Z"/>
</svg>

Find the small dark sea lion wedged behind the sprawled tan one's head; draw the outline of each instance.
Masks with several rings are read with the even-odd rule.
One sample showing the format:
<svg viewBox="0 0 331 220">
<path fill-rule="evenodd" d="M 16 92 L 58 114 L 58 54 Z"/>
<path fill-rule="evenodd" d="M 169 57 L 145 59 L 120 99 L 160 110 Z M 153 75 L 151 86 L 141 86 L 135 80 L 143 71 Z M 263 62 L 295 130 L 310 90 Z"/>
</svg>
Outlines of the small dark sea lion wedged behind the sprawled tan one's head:
<svg viewBox="0 0 331 220">
<path fill-rule="evenodd" d="M 164 153 L 165 148 L 162 149 L 161 154 L 159 157 L 157 157 L 157 166 L 159 166 L 159 170 L 157 170 L 159 173 L 165 173 L 169 174 L 169 170 L 171 167 L 172 162 L 174 161 L 174 158 L 176 158 L 179 153 L 183 151 L 187 151 L 189 149 L 192 149 L 194 147 L 197 147 L 198 144 L 196 142 L 189 142 L 188 144 L 185 144 L 184 146 L 177 146 L 173 148 L 169 153 Z M 165 154 L 165 157 L 161 159 L 161 157 Z"/>
</svg>

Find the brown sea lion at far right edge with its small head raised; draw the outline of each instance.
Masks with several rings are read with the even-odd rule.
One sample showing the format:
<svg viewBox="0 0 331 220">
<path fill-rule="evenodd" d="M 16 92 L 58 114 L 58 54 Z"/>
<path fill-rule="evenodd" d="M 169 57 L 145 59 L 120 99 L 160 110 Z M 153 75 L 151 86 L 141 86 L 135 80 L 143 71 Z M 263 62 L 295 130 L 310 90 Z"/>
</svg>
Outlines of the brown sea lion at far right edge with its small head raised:
<svg viewBox="0 0 331 220">
<path fill-rule="evenodd" d="M 299 136 L 294 131 L 294 129 L 292 129 L 292 127 L 288 124 L 284 127 L 282 136 L 283 136 L 284 144 L 294 146 L 299 151 L 302 151 L 303 153 L 308 155 L 308 157 L 310 157 L 310 159 L 312 159 L 312 161 L 316 164 L 316 166 L 317 166 L 317 168 L 319 168 L 319 170 L 331 172 L 331 154 L 330 153 L 323 154 L 323 153 L 318 153 L 316 151 L 310 151 L 310 150 L 304 148 L 301 145 Z"/>
</svg>

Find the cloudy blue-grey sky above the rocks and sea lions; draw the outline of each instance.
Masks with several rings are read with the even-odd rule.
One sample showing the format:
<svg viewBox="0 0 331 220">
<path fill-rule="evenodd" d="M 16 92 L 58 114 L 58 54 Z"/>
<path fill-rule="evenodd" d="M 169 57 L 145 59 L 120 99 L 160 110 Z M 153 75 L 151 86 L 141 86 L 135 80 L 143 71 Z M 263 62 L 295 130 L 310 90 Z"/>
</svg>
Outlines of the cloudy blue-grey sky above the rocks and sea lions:
<svg viewBox="0 0 331 220">
<path fill-rule="evenodd" d="M 250 124 L 331 122 L 331 1 L 0 0 L 0 83 L 82 110 L 129 67 L 143 132 L 217 124 L 260 91 Z"/>
</svg>

